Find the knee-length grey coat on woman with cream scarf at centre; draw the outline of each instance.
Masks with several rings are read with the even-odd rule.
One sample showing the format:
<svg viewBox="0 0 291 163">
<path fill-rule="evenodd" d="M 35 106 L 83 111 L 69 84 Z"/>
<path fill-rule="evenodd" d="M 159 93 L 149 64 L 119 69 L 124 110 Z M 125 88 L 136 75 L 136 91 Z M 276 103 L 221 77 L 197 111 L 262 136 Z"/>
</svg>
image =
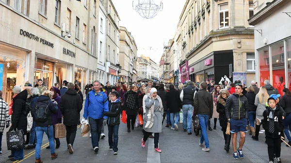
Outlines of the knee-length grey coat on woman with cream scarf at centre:
<svg viewBox="0 0 291 163">
<path fill-rule="evenodd" d="M 148 109 L 153 105 L 154 100 L 147 97 L 145 100 L 146 112 L 144 113 L 144 130 L 149 133 L 162 133 L 162 115 L 163 109 L 160 111 L 160 103 L 158 99 L 155 99 L 154 106 L 154 124 L 151 128 L 145 128 L 147 122 Z"/>
</svg>

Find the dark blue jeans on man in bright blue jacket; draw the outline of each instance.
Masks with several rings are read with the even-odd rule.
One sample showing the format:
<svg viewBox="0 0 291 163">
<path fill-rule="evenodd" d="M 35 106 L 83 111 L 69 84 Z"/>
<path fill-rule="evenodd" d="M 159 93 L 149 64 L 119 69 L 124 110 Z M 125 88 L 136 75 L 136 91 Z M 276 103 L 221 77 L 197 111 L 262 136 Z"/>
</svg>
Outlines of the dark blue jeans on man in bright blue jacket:
<svg viewBox="0 0 291 163">
<path fill-rule="evenodd" d="M 99 148 L 99 140 L 101 135 L 101 129 L 103 125 L 103 119 L 93 119 L 89 117 L 90 132 L 91 132 L 91 142 L 93 148 Z"/>
</svg>

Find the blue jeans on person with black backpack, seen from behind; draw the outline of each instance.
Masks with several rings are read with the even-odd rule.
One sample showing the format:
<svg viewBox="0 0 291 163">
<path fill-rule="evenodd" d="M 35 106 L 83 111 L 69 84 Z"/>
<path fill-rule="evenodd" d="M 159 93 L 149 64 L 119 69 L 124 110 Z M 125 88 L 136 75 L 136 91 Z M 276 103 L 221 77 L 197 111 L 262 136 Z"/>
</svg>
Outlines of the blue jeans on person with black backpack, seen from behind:
<svg viewBox="0 0 291 163">
<path fill-rule="evenodd" d="M 54 140 L 53 140 L 53 127 L 50 125 L 49 127 L 35 127 L 36 132 L 36 147 L 35 147 L 35 159 L 40 158 L 40 150 L 41 150 L 41 144 L 43 140 L 44 133 L 47 134 L 49 138 L 49 148 L 50 148 L 50 154 L 54 153 Z"/>
</svg>

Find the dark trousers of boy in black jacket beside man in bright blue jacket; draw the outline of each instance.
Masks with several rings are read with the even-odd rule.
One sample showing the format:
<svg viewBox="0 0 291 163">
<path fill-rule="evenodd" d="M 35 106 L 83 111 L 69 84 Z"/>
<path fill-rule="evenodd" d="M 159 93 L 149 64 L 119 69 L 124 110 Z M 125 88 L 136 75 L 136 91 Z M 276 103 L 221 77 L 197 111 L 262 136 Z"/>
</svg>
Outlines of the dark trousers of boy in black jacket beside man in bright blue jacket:
<svg viewBox="0 0 291 163">
<path fill-rule="evenodd" d="M 118 151 L 118 129 L 119 124 L 116 125 L 108 125 L 108 143 L 109 148 L 113 148 L 114 152 Z"/>
</svg>

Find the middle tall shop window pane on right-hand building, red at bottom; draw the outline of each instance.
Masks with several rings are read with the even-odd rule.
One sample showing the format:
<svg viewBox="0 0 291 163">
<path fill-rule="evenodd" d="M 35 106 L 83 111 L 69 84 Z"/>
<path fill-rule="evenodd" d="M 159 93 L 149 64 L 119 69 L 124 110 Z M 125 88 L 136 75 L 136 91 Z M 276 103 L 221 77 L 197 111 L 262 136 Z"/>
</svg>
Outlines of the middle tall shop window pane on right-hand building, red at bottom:
<svg viewBox="0 0 291 163">
<path fill-rule="evenodd" d="M 281 78 L 285 81 L 285 60 L 284 43 L 279 42 L 271 46 L 272 49 L 272 72 L 273 87 L 277 88 L 281 83 Z"/>
</svg>

